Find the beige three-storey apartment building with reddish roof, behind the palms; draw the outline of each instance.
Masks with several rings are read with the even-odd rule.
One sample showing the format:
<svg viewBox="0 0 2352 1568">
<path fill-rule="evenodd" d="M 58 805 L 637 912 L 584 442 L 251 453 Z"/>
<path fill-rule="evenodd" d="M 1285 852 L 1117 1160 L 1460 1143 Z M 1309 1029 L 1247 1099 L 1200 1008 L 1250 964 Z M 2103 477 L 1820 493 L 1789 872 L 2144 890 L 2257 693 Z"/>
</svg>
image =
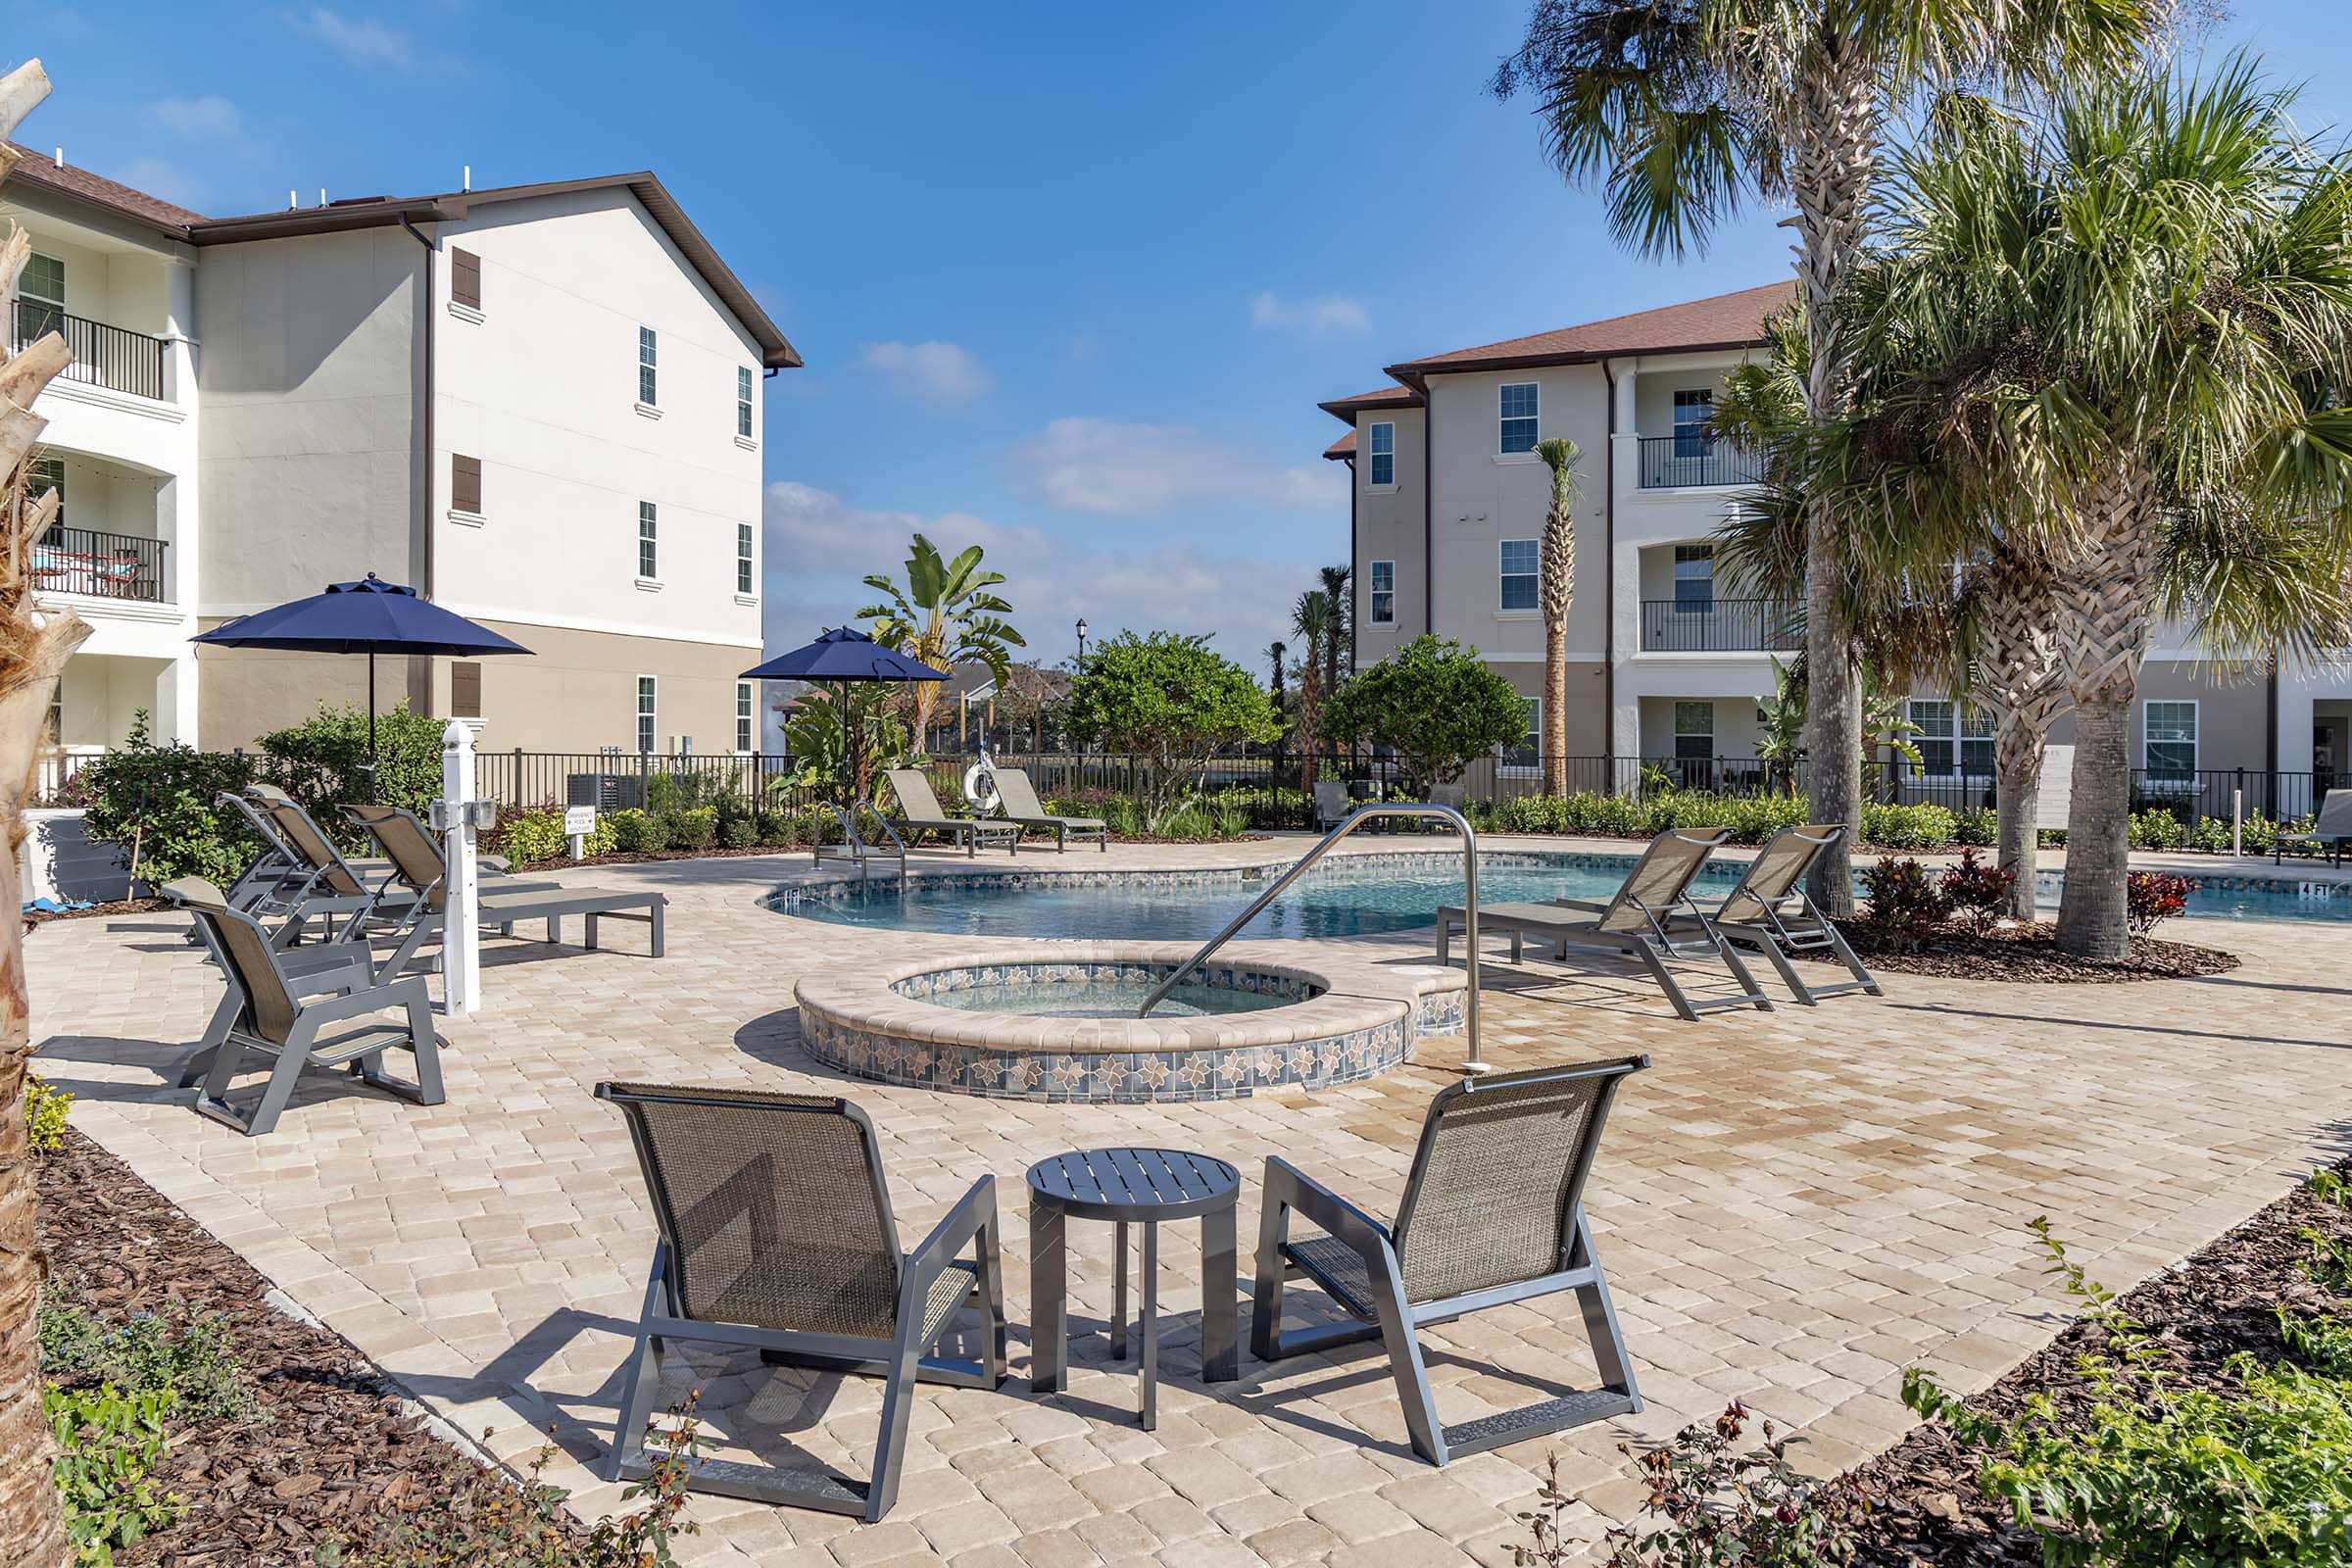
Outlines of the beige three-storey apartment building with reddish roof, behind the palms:
<svg viewBox="0 0 2352 1568">
<path fill-rule="evenodd" d="M 1715 578 L 1710 534 L 1755 461 L 1708 435 L 1731 367 L 1764 353 L 1795 284 L 1639 310 L 1390 364 L 1388 386 L 1319 404 L 1348 425 L 1324 456 L 1352 470 L 1355 661 L 1423 632 L 1458 637 L 1529 703 L 1503 769 L 1536 771 L 1543 618 L 1536 569 L 1550 470 L 1536 442 L 1583 449 L 1566 741 L 1573 757 L 1708 764 L 1755 757 L 1757 701 L 1790 661 L 1788 607 Z M 1959 693 L 1915 691 L 1926 773 L 1990 790 L 1992 736 Z M 2232 672 L 2164 628 L 2140 675 L 2136 764 L 2159 776 L 2347 771 L 2352 654 Z M 2053 743 L 2065 743 L 2060 724 Z M 1717 759 L 1733 759 L 1717 764 Z M 1595 773 L 1597 778 L 1597 773 Z"/>
</svg>

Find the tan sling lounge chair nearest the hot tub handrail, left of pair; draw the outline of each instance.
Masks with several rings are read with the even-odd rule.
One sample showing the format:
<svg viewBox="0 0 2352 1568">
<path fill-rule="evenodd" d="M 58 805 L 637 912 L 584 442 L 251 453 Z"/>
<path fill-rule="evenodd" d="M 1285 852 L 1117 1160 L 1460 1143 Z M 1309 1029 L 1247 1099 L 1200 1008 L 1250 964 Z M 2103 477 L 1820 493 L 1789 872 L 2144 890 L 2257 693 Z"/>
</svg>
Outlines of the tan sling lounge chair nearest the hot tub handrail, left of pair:
<svg viewBox="0 0 2352 1568">
<path fill-rule="evenodd" d="M 1689 1020 L 1726 1006 L 1752 1006 L 1769 1013 L 1771 999 L 1757 990 L 1740 954 L 1715 933 L 1708 914 L 1691 903 L 1691 879 L 1698 877 L 1717 844 L 1729 837 L 1729 827 L 1670 827 L 1649 842 L 1609 903 L 1557 898 L 1552 903 L 1479 905 L 1479 931 L 1510 936 L 1512 961 L 1519 961 L 1529 936 L 1552 943 L 1562 961 L 1569 950 L 1621 952 L 1639 959 L 1675 1011 Z M 1573 910 L 1585 914 L 1578 917 Z M 1439 964 L 1449 961 L 1454 933 L 1461 929 L 1461 907 L 1437 910 Z M 1731 978 L 1740 983 L 1740 994 L 1691 1001 L 1675 983 L 1675 971 L 1668 969 L 1672 959 L 1722 959 Z"/>
</svg>

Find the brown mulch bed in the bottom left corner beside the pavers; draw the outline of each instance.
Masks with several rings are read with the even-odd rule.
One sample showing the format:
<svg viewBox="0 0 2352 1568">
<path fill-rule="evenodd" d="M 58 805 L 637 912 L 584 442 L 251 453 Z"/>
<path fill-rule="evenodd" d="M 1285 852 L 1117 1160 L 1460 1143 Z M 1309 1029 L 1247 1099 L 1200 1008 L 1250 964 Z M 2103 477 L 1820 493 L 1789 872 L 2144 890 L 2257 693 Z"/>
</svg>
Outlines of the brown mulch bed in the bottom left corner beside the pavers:
<svg viewBox="0 0 2352 1568">
<path fill-rule="evenodd" d="M 186 1509 L 115 1563 L 313 1563 L 320 1542 L 426 1500 L 482 1507 L 515 1495 L 508 1476 L 407 1413 L 348 1340 L 268 1305 L 252 1265 L 120 1159 L 68 1128 L 66 1147 L 38 1164 L 49 1276 L 106 1319 L 226 1314 L 259 1403 L 252 1425 L 193 1427 L 174 1441 L 155 1481 Z"/>
</svg>

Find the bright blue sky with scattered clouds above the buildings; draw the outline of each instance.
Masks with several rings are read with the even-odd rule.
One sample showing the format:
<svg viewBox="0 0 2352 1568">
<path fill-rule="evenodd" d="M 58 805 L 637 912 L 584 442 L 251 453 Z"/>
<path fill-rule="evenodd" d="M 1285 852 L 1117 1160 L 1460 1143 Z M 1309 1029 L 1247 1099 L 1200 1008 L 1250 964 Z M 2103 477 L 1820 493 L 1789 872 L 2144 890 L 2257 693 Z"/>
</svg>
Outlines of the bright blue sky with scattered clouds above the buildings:
<svg viewBox="0 0 2352 1568">
<path fill-rule="evenodd" d="M 769 381 L 788 646 L 983 543 L 1070 623 L 1263 663 L 1345 559 L 1341 425 L 1381 364 L 1788 275 L 1778 214 L 1618 252 L 1482 85 L 1524 0 L 1446 5 L 9 5 L 56 80 L 24 139 L 207 214 L 652 167 L 809 367 Z M 2218 42 L 2352 122 L 2340 0 Z"/>
</svg>

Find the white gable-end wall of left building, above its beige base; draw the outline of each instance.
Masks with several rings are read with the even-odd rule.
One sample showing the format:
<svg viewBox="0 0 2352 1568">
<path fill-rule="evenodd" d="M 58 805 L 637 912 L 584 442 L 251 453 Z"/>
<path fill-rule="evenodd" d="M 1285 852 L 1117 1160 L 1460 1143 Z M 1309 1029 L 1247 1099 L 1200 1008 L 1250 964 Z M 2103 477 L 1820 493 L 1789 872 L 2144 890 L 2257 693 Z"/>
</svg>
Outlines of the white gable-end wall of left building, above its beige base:
<svg viewBox="0 0 2352 1568">
<path fill-rule="evenodd" d="M 614 632 L 727 646 L 734 670 L 757 663 L 741 658 L 760 646 L 764 383 L 750 334 L 626 190 L 487 205 L 437 226 L 437 242 L 435 597 L 539 632 L 517 632 L 527 646 L 560 628 L 567 646 Z M 449 301 L 454 244 L 482 259 L 480 310 Z M 652 409 L 637 404 L 640 324 L 659 334 Z M 739 367 L 753 369 L 753 437 L 736 435 Z M 482 463 L 480 515 L 452 510 L 452 454 Z M 637 576 L 640 501 L 656 505 L 652 581 Z M 739 524 L 753 527 L 748 595 Z M 696 745 L 717 731 L 682 729 Z"/>
</svg>

